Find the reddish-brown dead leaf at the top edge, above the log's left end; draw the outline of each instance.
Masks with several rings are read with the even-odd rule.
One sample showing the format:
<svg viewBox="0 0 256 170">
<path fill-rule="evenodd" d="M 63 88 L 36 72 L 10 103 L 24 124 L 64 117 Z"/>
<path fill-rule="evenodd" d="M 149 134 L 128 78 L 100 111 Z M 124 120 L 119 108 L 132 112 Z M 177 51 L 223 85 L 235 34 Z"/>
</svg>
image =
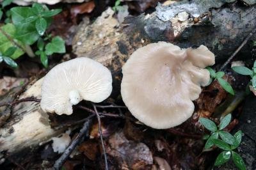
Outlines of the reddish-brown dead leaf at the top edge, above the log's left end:
<svg viewBox="0 0 256 170">
<path fill-rule="evenodd" d="M 83 14 L 83 13 L 91 13 L 93 9 L 95 8 L 94 1 L 90 1 L 88 3 L 79 4 L 76 6 L 72 6 L 70 13 L 71 18 L 76 18 L 77 14 Z"/>
</svg>

